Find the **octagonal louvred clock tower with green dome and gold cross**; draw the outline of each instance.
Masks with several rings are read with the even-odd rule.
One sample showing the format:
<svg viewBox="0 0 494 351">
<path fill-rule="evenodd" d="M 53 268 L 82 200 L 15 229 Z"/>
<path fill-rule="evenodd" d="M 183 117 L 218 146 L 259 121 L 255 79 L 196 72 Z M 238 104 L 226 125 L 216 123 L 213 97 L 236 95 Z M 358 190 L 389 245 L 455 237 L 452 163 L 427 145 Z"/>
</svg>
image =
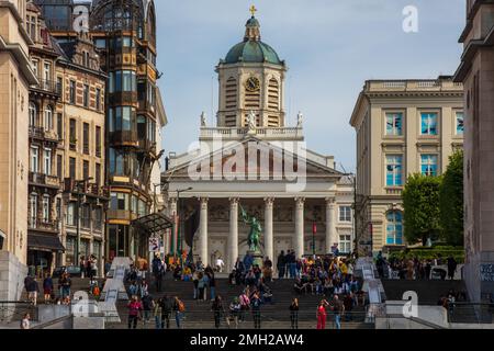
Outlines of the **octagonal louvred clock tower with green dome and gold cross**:
<svg viewBox="0 0 494 351">
<path fill-rule="evenodd" d="M 247 127 L 251 111 L 256 126 L 284 127 L 284 76 L 287 66 L 261 41 L 256 9 L 246 23 L 244 41 L 233 46 L 216 66 L 220 81 L 218 127 Z"/>
</svg>

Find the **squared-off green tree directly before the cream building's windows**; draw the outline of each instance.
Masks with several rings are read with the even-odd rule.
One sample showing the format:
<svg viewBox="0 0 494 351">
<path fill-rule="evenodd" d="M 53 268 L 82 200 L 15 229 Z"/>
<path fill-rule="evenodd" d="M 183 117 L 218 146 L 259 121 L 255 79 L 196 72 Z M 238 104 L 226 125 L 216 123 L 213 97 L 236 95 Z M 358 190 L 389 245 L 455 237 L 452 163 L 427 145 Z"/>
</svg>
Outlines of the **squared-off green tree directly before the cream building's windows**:
<svg viewBox="0 0 494 351">
<path fill-rule="evenodd" d="M 439 224 L 440 177 L 413 174 L 403 190 L 405 238 L 409 244 L 437 239 Z"/>
</svg>

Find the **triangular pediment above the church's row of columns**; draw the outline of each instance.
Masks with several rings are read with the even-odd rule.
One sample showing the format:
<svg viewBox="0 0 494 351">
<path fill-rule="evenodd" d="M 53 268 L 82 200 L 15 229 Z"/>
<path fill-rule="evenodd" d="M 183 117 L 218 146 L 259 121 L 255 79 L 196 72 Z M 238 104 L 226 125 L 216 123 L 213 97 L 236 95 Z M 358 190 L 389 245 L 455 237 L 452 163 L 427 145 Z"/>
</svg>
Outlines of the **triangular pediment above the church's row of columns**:
<svg viewBox="0 0 494 351">
<path fill-rule="evenodd" d="M 311 151 L 301 141 L 266 141 L 247 136 L 243 140 L 225 143 L 220 148 L 205 147 L 201 151 L 198 149 L 198 154 L 192 157 L 182 156 L 181 159 L 186 161 L 168 170 L 165 176 L 169 179 L 188 178 L 191 169 L 199 172 L 204 168 L 207 168 L 204 172 L 207 171 L 210 174 L 221 170 L 224 177 L 244 173 L 246 179 L 249 174 L 279 179 L 287 172 L 304 172 L 307 178 L 339 179 L 344 176 L 326 165 L 307 158 L 308 154 Z"/>
</svg>

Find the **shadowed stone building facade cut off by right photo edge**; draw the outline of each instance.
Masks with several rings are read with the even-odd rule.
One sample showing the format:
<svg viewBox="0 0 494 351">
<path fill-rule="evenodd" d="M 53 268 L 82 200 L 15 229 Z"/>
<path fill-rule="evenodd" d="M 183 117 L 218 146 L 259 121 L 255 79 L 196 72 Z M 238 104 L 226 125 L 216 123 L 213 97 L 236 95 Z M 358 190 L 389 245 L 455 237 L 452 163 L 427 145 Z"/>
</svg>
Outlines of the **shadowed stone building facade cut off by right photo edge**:
<svg viewBox="0 0 494 351">
<path fill-rule="evenodd" d="M 473 302 L 494 293 L 494 4 L 467 1 L 454 80 L 464 84 L 464 279 Z"/>
</svg>

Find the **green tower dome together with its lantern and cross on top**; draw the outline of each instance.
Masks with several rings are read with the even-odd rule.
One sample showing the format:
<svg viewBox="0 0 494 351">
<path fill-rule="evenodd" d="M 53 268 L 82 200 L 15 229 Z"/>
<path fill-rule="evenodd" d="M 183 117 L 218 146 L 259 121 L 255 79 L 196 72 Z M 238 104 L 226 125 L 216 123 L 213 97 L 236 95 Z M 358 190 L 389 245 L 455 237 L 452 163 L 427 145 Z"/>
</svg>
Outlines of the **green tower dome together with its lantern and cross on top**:
<svg viewBox="0 0 494 351">
<path fill-rule="evenodd" d="M 252 15 L 246 23 L 244 42 L 232 47 L 226 54 L 225 64 L 255 63 L 283 65 L 277 52 L 260 39 L 260 24 Z"/>
</svg>

